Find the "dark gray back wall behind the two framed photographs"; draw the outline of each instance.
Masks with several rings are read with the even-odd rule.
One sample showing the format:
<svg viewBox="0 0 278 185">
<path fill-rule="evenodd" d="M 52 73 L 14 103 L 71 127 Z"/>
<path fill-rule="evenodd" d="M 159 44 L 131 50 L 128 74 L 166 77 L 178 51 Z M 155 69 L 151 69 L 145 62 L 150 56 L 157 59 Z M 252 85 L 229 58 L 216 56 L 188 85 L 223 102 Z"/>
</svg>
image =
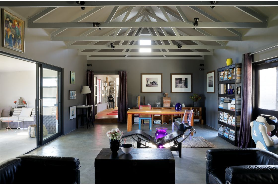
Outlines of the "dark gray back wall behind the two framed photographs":
<svg viewBox="0 0 278 185">
<path fill-rule="evenodd" d="M 189 96 L 198 93 L 203 97 L 198 102 L 198 106 L 203 107 L 204 71 L 199 70 L 199 64 L 203 64 L 203 60 L 88 60 L 88 64 L 92 64 L 92 67 L 88 67 L 88 69 L 95 72 L 129 72 L 127 76 L 129 107 L 136 107 L 136 96 L 140 96 L 141 105 L 143 96 L 145 96 L 146 105 L 150 103 L 153 107 L 156 100 L 161 100 L 162 104 L 164 93 L 169 93 L 168 97 L 171 97 L 171 102 L 184 103 L 188 107 L 193 106 Z M 141 73 L 162 73 L 163 93 L 141 93 Z M 193 93 L 170 93 L 171 73 L 192 73 Z"/>
</svg>

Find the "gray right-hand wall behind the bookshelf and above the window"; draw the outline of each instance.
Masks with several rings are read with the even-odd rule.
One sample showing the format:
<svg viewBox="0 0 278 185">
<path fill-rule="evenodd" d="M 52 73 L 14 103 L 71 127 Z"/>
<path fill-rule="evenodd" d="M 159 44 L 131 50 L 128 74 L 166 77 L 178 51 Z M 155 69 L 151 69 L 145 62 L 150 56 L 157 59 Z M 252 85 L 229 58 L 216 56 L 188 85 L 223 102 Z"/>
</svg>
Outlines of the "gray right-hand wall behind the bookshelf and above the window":
<svg viewBox="0 0 278 185">
<path fill-rule="evenodd" d="M 205 56 L 205 72 L 215 70 L 215 93 L 206 93 L 206 86 L 204 92 L 206 96 L 206 123 L 207 125 L 217 129 L 217 69 L 225 67 L 226 59 L 232 58 L 234 63 L 242 63 L 242 54 L 255 52 L 272 45 L 277 44 L 277 26 L 278 16 L 269 17 L 268 28 L 253 28 L 243 34 L 242 41 L 229 41 L 227 42 L 225 50 L 214 50 L 213 56 Z M 278 56 L 278 47 L 264 52 L 254 54 L 253 61 L 264 60 Z M 206 84 L 206 78 L 204 78 Z"/>
</svg>

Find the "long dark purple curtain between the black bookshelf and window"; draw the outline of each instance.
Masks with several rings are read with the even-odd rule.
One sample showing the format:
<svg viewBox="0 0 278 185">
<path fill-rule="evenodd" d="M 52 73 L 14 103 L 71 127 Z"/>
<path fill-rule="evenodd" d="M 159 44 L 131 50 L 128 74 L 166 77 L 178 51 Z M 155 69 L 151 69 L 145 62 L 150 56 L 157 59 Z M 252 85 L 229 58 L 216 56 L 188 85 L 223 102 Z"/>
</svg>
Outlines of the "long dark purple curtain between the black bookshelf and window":
<svg viewBox="0 0 278 185">
<path fill-rule="evenodd" d="M 251 118 L 252 118 L 252 56 L 249 53 L 243 54 L 242 60 L 242 105 L 239 128 L 238 146 L 240 148 L 253 147 L 251 138 Z"/>
</svg>

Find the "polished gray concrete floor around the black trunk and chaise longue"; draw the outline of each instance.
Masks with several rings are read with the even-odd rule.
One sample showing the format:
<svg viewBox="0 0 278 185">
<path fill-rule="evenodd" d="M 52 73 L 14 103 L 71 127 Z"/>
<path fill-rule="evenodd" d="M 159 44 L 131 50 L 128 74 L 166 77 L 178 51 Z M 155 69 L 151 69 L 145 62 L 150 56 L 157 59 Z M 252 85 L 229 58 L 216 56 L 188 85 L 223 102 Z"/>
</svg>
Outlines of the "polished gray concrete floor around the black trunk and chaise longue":
<svg viewBox="0 0 278 185">
<path fill-rule="evenodd" d="M 171 125 L 166 126 L 169 130 Z M 30 154 L 48 156 L 69 156 L 80 159 L 80 178 L 81 183 L 95 182 L 94 161 L 102 148 L 109 148 L 109 139 L 106 131 L 119 128 L 126 132 L 126 124 L 120 123 L 95 123 L 95 127 L 86 129 L 78 128 L 71 133 L 63 135 L 54 141 L 32 151 Z M 217 136 L 217 131 L 207 125 L 195 125 L 197 134 L 202 136 L 217 148 L 237 148 L 222 138 Z M 137 129 L 138 125 L 133 125 Z M 155 126 L 152 131 L 148 130 L 148 125 L 142 125 L 141 130 L 154 135 Z M 205 183 L 205 154 L 210 148 L 182 148 L 182 158 L 178 157 L 177 151 L 172 151 L 176 166 L 176 183 Z M 119 172 L 119 174 L 124 172 Z M 163 174 L 163 170 L 159 172 Z M 134 182 L 135 183 L 135 182 Z"/>
</svg>

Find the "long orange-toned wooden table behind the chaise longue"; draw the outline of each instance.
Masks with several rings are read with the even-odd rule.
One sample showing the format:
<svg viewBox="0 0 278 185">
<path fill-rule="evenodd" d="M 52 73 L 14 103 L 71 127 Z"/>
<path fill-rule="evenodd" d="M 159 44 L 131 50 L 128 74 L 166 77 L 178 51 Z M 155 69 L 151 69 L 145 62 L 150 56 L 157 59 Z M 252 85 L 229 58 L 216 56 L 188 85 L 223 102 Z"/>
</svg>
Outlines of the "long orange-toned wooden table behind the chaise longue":
<svg viewBox="0 0 278 185">
<path fill-rule="evenodd" d="M 129 109 L 127 111 L 127 131 L 132 130 L 132 115 L 138 114 L 138 115 L 181 115 L 183 116 L 185 112 L 185 109 L 183 110 L 174 110 L 174 109 Z M 153 121 L 153 120 L 152 120 Z M 193 116 L 190 120 L 190 125 L 193 126 Z"/>
</svg>

